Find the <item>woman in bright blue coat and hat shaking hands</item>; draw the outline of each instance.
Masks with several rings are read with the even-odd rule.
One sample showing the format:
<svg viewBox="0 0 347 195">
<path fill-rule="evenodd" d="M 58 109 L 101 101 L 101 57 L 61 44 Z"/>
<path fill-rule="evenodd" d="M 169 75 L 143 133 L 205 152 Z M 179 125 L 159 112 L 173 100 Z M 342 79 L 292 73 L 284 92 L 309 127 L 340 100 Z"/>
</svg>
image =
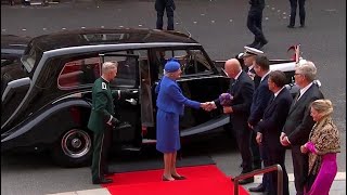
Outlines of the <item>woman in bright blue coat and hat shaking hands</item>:
<svg viewBox="0 0 347 195">
<path fill-rule="evenodd" d="M 156 88 L 158 93 L 156 105 L 156 150 L 164 154 L 163 181 L 184 180 L 176 170 L 177 151 L 180 150 L 179 116 L 183 115 L 184 106 L 198 109 L 206 106 L 187 99 L 177 84 L 181 76 L 180 64 L 176 58 L 169 60 L 164 67 L 164 77 Z"/>
</svg>

